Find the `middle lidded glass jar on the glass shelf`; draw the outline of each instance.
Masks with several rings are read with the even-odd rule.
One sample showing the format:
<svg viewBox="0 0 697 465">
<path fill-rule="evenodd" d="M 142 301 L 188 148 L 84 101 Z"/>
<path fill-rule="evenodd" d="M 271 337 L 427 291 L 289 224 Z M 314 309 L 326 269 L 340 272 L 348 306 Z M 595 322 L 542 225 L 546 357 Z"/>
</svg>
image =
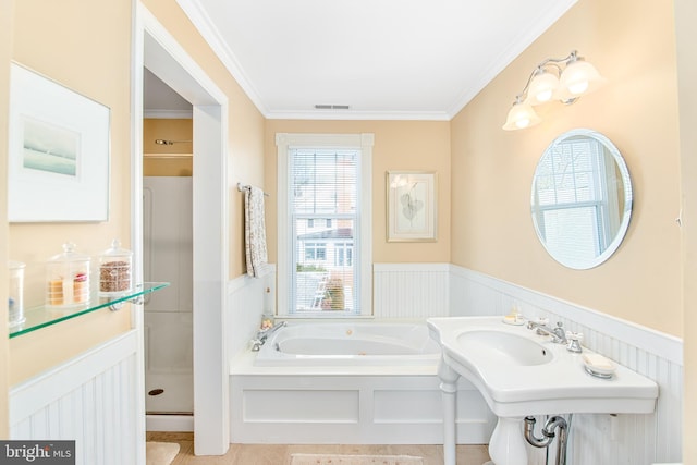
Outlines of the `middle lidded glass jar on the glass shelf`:
<svg viewBox="0 0 697 465">
<path fill-rule="evenodd" d="M 70 308 L 89 303 L 88 255 L 75 252 L 75 244 L 63 244 L 63 253 L 46 264 L 46 306 Z"/>
</svg>

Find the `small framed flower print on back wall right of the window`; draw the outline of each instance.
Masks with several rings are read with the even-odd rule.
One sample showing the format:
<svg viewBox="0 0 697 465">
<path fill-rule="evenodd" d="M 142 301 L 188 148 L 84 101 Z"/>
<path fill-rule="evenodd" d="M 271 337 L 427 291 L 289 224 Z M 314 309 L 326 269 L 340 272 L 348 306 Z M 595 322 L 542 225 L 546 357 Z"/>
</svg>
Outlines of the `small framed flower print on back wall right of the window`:
<svg viewBox="0 0 697 465">
<path fill-rule="evenodd" d="M 387 172 L 387 241 L 436 242 L 437 181 L 432 171 Z"/>
</svg>

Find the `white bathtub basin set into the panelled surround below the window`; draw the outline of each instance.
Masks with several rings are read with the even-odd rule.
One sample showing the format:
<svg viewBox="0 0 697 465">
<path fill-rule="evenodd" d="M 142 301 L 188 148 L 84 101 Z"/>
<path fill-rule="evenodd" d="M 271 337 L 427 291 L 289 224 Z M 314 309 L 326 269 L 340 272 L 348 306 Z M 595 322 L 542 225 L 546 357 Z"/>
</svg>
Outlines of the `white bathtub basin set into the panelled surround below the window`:
<svg viewBox="0 0 697 465">
<path fill-rule="evenodd" d="M 435 365 L 439 345 L 423 323 L 291 323 L 259 350 L 256 366 Z"/>
</svg>

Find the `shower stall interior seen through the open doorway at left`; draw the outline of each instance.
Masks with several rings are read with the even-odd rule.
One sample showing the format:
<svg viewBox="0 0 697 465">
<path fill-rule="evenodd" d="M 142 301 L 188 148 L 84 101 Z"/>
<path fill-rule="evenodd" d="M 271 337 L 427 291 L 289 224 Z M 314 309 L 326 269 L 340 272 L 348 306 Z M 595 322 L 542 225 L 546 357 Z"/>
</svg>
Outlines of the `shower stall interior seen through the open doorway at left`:
<svg viewBox="0 0 697 465">
<path fill-rule="evenodd" d="M 143 271 L 149 430 L 193 431 L 192 105 L 144 70 Z M 157 415 L 155 417 L 154 415 Z"/>
</svg>

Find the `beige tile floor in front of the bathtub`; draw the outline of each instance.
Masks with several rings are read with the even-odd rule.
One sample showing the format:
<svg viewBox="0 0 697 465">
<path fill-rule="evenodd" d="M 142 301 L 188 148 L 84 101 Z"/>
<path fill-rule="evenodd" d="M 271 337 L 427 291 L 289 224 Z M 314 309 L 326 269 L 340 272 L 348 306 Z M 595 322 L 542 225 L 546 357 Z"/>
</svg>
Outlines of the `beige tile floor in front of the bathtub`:
<svg viewBox="0 0 697 465">
<path fill-rule="evenodd" d="M 416 455 L 424 465 L 442 465 L 441 445 L 353 445 L 353 444 L 230 444 L 222 456 L 195 456 L 191 432 L 148 432 L 148 441 L 178 442 L 181 446 L 172 465 L 288 465 L 293 453 Z M 481 465 L 489 460 L 486 445 L 458 445 L 457 465 Z"/>
</svg>

